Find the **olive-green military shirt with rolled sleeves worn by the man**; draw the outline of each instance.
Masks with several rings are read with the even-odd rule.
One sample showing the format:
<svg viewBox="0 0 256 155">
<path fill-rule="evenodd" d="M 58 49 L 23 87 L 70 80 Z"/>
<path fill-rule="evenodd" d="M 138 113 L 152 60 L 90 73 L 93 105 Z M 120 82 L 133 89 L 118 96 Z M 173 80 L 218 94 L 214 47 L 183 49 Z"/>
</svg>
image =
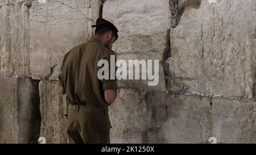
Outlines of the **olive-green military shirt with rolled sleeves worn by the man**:
<svg viewBox="0 0 256 155">
<path fill-rule="evenodd" d="M 117 90 L 117 79 L 98 79 L 97 72 L 103 65 L 97 66 L 97 63 L 104 59 L 109 62 L 110 67 L 111 55 L 114 55 L 116 61 L 115 53 L 94 37 L 64 55 L 59 85 L 66 92 L 67 103 L 88 104 L 92 108 L 108 107 L 104 90 Z"/>
</svg>

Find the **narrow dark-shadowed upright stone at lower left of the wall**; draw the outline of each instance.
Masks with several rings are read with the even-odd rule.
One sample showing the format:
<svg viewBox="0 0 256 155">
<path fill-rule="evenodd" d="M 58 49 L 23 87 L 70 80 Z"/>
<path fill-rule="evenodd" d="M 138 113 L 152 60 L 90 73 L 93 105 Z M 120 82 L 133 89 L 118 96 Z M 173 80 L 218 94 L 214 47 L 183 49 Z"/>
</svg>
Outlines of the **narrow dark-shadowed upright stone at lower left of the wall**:
<svg viewBox="0 0 256 155">
<path fill-rule="evenodd" d="M 28 77 L 18 78 L 17 92 L 17 143 L 37 143 L 42 119 L 40 114 L 39 80 Z"/>
</svg>

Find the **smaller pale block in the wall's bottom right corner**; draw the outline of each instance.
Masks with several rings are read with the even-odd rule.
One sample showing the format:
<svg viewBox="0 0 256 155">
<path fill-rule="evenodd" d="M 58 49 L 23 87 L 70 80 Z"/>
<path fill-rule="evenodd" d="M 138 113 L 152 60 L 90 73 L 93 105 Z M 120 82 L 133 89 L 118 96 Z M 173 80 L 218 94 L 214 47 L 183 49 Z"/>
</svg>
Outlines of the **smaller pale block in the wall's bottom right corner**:
<svg viewBox="0 0 256 155">
<path fill-rule="evenodd" d="M 255 100 L 213 98 L 212 131 L 217 143 L 256 143 Z"/>
</svg>

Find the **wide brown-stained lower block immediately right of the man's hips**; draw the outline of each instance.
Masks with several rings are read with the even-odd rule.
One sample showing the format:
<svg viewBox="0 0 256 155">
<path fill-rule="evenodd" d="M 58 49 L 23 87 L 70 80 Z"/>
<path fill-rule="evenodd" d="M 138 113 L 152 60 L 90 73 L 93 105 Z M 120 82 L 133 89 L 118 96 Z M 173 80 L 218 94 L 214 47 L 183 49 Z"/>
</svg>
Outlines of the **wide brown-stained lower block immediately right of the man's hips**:
<svg viewBox="0 0 256 155">
<path fill-rule="evenodd" d="M 210 98 L 118 90 L 109 107 L 112 143 L 208 143 Z"/>
</svg>

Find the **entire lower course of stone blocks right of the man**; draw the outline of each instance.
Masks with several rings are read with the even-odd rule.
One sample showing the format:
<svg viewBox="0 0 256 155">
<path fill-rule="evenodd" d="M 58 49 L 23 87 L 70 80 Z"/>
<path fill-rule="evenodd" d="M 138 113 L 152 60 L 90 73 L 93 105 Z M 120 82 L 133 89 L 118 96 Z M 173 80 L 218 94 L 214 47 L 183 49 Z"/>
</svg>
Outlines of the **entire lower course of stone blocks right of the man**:
<svg viewBox="0 0 256 155">
<path fill-rule="evenodd" d="M 120 89 L 112 143 L 256 143 L 255 100 Z"/>
</svg>

